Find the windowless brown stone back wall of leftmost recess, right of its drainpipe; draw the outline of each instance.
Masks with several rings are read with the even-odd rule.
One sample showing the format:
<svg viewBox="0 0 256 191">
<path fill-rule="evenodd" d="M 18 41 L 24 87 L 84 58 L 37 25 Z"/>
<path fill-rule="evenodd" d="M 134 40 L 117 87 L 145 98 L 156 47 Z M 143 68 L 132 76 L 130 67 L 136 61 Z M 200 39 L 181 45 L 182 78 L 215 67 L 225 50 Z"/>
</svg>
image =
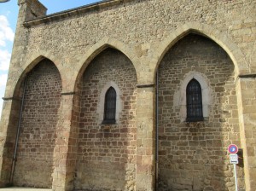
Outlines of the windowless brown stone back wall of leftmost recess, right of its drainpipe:
<svg viewBox="0 0 256 191">
<path fill-rule="evenodd" d="M 51 188 L 60 103 L 60 74 L 51 61 L 41 61 L 26 77 L 15 163 L 16 186 Z"/>
</svg>

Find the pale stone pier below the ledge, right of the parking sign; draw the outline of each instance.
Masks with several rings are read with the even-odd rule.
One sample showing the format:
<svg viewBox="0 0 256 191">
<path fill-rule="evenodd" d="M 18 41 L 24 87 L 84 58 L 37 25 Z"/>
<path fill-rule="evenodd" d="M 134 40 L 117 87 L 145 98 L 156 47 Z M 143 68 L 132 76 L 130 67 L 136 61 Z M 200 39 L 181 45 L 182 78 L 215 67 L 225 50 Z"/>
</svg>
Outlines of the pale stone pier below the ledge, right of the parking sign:
<svg viewBox="0 0 256 191">
<path fill-rule="evenodd" d="M 255 75 L 244 76 L 239 78 L 240 84 L 237 84 L 236 90 L 239 92 L 238 96 L 238 110 L 240 118 L 240 128 L 241 128 L 241 147 L 243 148 L 243 156 L 245 157 L 245 173 L 248 177 L 245 179 L 245 184 L 248 190 L 253 190 L 248 188 L 248 185 L 256 185 L 255 172 L 253 169 L 256 167 L 256 129 L 255 129 L 255 113 L 256 107 L 254 102 L 256 99 L 256 81 Z M 249 166 L 249 168 L 246 168 Z M 253 187 L 252 186 L 252 187 Z"/>
</svg>

